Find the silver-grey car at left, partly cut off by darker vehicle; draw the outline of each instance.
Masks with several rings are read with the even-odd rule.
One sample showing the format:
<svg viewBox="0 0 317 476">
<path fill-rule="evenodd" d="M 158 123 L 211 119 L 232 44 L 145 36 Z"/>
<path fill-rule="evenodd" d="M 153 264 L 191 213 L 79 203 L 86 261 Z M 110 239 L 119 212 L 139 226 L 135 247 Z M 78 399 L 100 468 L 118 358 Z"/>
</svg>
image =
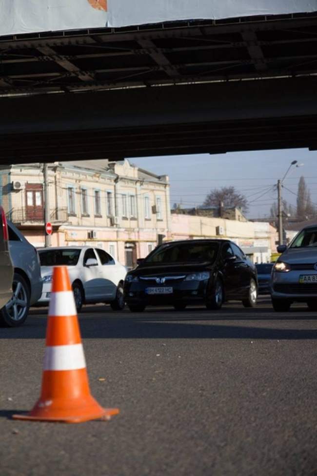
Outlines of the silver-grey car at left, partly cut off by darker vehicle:
<svg viewBox="0 0 317 476">
<path fill-rule="evenodd" d="M 9 250 L 14 266 L 13 295 L 0 310 L 0 325 L 18 327 L 23 324 L 29 307 L 38 301 L 42 292 L 40 259 L 36 248 L 11 222 L 8 222 L 8 234 Z"/>
</svg>

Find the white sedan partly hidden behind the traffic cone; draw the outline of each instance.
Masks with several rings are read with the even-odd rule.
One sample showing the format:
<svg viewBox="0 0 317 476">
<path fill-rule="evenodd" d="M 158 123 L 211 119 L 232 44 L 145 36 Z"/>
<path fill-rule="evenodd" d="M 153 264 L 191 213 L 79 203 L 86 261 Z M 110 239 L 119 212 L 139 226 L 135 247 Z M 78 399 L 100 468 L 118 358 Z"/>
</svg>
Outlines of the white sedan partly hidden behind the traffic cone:
<svg viewBox="0 0 317 476">
<path fill-rule="evenodd" d="M 126 268 L 100 248 L 39 248 L 42 295 L 38 305 L 48 304 L 54 266 L 67 266 L 77 311 L 83 304 L 106 303 L 112 309 L 124 308 L 123 282 Z"/>
</svg>

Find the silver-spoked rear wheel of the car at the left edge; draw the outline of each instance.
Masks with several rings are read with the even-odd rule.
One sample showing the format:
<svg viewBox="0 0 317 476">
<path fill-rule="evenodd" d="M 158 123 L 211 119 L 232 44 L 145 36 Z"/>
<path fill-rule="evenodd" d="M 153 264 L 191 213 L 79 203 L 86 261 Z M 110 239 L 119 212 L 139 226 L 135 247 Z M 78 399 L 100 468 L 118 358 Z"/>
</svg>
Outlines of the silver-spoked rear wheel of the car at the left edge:
<svg viewBox="0 0 317 476">
<path fill-rule="evenodd" d="M 29 312 L 29 287 L 25 279 L 18 273 L 14 273 L 12 290 L 12 298 L 4 308 L 0 310 L 0 325 L 3 327 L 21 326 Z"/>
</svg>

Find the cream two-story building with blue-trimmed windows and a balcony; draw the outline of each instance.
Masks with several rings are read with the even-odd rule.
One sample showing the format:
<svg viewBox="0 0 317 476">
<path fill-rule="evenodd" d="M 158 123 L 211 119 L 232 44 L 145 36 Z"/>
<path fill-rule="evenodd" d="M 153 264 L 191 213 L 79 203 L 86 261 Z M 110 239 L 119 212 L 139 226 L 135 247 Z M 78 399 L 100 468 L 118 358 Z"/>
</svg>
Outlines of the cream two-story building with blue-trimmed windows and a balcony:
<svg viewBox="0 0 317 476">
<path fill-rule="evenodd" d="M 36 247 L 44 246 L 43 164 L 0 169 L 0 201 L 7 217 Z M 166 175 L 127 160 L 55 162 L 48 166 L 52 246 L 95 243 L 132 267 L 170 239 L 170 195 Z"/>
</svg>

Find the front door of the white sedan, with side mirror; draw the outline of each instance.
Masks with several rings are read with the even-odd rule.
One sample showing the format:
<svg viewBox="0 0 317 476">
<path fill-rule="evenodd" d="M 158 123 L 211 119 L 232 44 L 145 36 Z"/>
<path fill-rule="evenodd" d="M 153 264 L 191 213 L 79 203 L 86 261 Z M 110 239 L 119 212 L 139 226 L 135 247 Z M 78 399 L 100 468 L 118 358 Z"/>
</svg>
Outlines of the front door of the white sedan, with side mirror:
<svg viewBox="0 0 317 476">
<path fill-rule="evenodd" d="M 96 260 L 95 266 L 88 266 L 89 259 Z M 86 301 L 102 301 L 105 299 L 104 279 L 101 274 L 101 266 L 98 256 L 93 248 L 88 248 L 84 251 L 82 259 L 82 283 L 85 291 Z"/>
</svg>

